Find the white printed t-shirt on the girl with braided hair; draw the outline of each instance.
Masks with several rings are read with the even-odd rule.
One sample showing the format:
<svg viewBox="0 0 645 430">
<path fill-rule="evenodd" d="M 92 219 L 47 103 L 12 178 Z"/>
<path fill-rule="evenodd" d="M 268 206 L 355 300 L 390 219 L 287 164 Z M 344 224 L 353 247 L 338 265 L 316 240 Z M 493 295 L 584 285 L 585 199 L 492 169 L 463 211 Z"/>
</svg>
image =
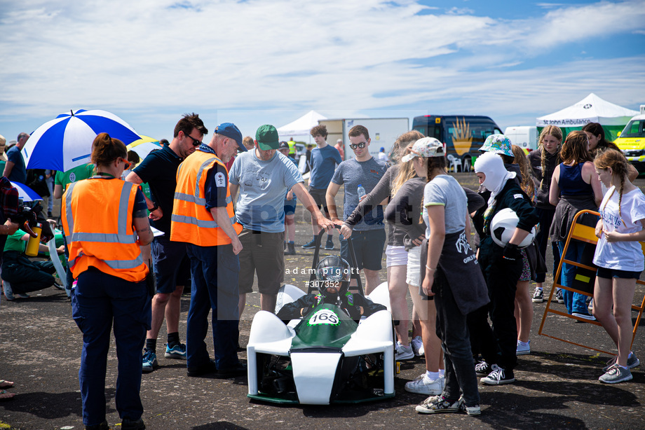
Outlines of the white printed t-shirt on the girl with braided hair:
<svg viewBox="0 0 645 430">
<path fill-rule="evenodd" d="M 618 233 L 637 233 L 643 229 L 640 223 L 645 219 L 645 195 L 636 188 L 623 194 L 618 215 L 618 190 L 611 187 L 600 204 L 600 217 L 604 230 L 617 231 Z M 594 264 L 607 269 L 627 270 L 640 272 L 645 267 L 645 256 L 640 242 L 613 242 L 607 243 L 604 234 L 601 235 L 596 245 Z"/>
</svg>

